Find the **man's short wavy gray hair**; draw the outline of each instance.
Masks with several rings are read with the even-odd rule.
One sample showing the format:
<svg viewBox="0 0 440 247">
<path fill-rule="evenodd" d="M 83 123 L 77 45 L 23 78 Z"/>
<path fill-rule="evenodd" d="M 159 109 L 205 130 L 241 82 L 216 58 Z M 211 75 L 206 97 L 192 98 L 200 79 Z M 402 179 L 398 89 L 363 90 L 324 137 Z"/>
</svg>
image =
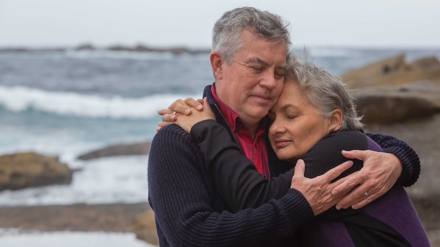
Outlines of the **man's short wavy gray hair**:
<svg viewBox="0 0 440 247">
<path fill-rule="evenodd" d="M 252 7 L 227 11 L 214 24 L 212 51 L 218 51 L 230 65 L 235 53 L 242 45 L 240 38 L 243 29 L 248 29 L 274 43 L 284 40 L 288 49 L 290 35 L 287 25 L 288 23 L 285 23 L 280 16 Z"/>
</svg>

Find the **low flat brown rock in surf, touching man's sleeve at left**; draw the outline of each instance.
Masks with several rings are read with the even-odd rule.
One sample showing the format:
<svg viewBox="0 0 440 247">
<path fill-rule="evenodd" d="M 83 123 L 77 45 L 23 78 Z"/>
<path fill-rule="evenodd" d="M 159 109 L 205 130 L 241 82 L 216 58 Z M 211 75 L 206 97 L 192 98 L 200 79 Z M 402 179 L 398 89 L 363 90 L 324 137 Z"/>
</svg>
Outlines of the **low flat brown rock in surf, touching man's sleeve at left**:
<svg viewBox="0 0 440 247">
<path fill-rule="evenodd" d="M 150 152 L 151 143 L 114 145 L 90 153 L 80 155 L 78 159 L 88 160 L 107 156 L 143 155 Z"/>
</svg>

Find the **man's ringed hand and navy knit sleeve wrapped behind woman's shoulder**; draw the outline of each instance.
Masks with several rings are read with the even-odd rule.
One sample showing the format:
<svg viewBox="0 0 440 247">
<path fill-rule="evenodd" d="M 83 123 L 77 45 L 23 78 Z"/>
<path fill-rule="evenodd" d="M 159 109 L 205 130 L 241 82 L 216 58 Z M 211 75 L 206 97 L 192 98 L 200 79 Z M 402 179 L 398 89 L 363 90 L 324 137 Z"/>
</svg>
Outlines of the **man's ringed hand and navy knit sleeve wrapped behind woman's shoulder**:
<svg viewBox="0 0 440 247">
<path fill-rule="evenodd" d="M 399 178 L 399 182 L 409 186 L 419 177 L 419 157 L 405 142 L 390 135 L 368 135 L 383 150 L 382 152 L 353 150 L 343 153 L 348 158 L 364 160 L 364 165 L 359 173 L 348 176 L 344 183 L 332 191 L 332 195 L 340 196 L 351 190 L 336 204 L 338 209 L 361 208 L 385 194 Z M 401 160 L 405 168 L 403 172 Z M 359 186 L 352 190 L 356 185 Z M 368 193 L 369 196 L 365 196 L 365 193 Z"/>
</svg>

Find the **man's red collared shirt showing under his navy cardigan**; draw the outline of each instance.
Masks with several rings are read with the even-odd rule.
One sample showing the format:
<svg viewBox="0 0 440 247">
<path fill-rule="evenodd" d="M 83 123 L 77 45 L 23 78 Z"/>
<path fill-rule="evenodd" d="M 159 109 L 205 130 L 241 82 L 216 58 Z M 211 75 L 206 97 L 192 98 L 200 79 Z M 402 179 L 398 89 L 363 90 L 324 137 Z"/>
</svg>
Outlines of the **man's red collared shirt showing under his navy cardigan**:
<svg viewBox="0 0 440 247">
<path fill-rule="evenodd" d="M 260 124 L 255 135 L 255 139 L 252 139 L 252 134 L 249 129 L 241 122 L 238 115 L 232 111 L 229 106 L 223 103 L 215 94 L 215 83 L 211 86 L 211 93 L 214 96 L 217 106 L 222 112 L 223 116 L 232 129 L 232 132 L 237 139 L 238 145 L 241 148 L 241 152 L 246 155 L 252 162 L 254 162 L 257 171 L 263 174 L 266 178 L 270 177 L 269 168 L 267 165 L 267 150 L 264 142 L 264 121 L 260 121 Z"/>
</svg>

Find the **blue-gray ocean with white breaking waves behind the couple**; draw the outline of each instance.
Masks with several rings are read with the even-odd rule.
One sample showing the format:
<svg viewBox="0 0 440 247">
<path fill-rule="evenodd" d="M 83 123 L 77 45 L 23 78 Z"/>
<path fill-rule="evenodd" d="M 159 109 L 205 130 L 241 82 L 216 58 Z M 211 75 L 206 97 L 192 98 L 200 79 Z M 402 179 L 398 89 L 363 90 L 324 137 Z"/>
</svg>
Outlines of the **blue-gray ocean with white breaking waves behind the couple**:
<svg viewBox="0 0 440 247">
<path fill-rule="evenodd" d="M 297 48 L 336 74 L 440 48 Z M 131 51 L 0 52 L 0 155 L 34 151 L 80 169 L 70 185 L 0 192 L 2 205 L 137 203 L 148 200 L 148 155 L 82 161 L 85 152 L 151 141 L 157 111 L 178 98 L 202 97 L 212 84 L 209 54 Z"/>
</svg>

